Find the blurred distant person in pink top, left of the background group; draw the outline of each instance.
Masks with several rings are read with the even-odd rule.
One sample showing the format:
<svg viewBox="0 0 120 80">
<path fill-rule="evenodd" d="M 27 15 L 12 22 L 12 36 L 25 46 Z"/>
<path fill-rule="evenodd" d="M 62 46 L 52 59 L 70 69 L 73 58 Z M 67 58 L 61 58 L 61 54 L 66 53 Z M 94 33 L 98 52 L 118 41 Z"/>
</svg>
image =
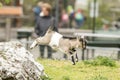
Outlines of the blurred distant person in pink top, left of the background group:
<svg viewBox="0 0 120 80">
<path fill-rule="evenodd" d="M 65 10 L 62 10 L 61 14 L 61 27 L 68 28 L 69 16 Z"/>
</svg>

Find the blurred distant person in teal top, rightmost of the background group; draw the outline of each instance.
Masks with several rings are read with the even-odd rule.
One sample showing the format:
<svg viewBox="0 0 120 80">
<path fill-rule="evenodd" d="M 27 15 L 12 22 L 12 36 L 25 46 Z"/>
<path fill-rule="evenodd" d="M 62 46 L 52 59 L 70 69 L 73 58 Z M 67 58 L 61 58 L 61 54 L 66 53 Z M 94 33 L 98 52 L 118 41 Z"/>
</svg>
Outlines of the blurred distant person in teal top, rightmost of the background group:
<svg viewBox="0 0 120 80">
<path fill-rule="evenodd" d="M 82 14 L 82 10 L 78 9 L 74 17 L 75 17 L 75 22 L 76 22 L 76 28 L 80 28 L 84 23 L 84 16 Z"/>
</svg>

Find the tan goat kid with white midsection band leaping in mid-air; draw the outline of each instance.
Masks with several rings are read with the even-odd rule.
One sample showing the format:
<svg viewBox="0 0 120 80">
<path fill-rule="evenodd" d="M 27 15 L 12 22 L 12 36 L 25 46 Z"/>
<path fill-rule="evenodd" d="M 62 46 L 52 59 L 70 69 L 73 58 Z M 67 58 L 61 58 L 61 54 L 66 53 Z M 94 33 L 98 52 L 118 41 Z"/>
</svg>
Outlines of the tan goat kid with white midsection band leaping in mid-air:
<svg viewBox="0 0 120 80">
<path fill-rule="evenodd" d="M 64 38 L 63 35 L 53 31 L 51 28 L 47 30 L 45 36 L 35 39 L 30 48 L 33 49 L 38 44 L 49 45 L 53 50 L 70 54 L 73 65 L 75 65 L 75 62 L 78 62 L 76 49 L 86 48 L 86 40 L 84 37 L 76 37 L 74 39 Z M 73 54 L 75 54 L 75 56 Z M 74 58 L 76 58 L 76 61 Z"/>
</svg>

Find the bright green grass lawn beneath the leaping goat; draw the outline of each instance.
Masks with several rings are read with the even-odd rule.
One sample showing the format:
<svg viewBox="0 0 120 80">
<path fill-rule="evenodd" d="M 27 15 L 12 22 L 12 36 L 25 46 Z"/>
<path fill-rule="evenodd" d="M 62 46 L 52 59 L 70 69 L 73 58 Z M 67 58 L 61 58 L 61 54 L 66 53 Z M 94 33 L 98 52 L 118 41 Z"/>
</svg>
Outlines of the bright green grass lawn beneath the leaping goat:
<svg viewBox="0 0 120 80">
<path fill-rule="evenodd" d="M 67 60 L 39 59 L 50 79 L 45 80 L 120 80 L 120 64 L 117 66 L 92 66 L 80 61 L 72 65 Z"/>
</svg>

